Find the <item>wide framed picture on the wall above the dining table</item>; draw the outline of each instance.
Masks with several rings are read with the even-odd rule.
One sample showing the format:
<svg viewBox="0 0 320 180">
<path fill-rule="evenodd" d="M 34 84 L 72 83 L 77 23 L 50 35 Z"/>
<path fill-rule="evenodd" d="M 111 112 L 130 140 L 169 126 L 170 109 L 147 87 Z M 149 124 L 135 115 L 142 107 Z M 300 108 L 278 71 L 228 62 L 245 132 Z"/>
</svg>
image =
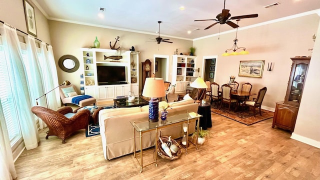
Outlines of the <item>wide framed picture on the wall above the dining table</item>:
<svg viewBox="0 0 320 180">
<path fill-rule="evenodd" d="M 239 76 L 262 77 L 264 60 L 240 60 Z"/>
</svg>

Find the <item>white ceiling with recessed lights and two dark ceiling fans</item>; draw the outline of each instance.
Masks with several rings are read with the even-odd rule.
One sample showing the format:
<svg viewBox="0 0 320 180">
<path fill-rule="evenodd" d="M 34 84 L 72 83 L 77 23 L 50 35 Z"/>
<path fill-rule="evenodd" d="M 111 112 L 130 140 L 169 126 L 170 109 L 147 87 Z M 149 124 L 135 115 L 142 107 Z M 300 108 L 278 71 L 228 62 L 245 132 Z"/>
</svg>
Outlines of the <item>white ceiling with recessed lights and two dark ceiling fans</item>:
<svg viewBox="0 0 320 180">
<path fill-rule="evenodd" d="M 232 30 L 227 24 L 215 21 L 223 9 L 223 0 L 32 0 L 48 19 L 96 25 L 107 28 L 155 34 L 160 24 L 160 36 L 194 39 L 210 34 Z M 279 5 L 263 6 L 279 2 Z M 184 10 L 179 7 L 184 6 Z M 105 8 L 103 18 L 98 17 L 99 8 Z M 320 9 L 320 0 L 226 0 L 225 9 L 232 16 L 258 13 L 258 17 L 244 18 L 239 28 L 302 12 Z M 235 20 L 232 20 L 236 23 Z M 198 30 L 193 30 L 200 28 Z M 190 34 L 188 30 L 193 30 Z"/>
</svg>

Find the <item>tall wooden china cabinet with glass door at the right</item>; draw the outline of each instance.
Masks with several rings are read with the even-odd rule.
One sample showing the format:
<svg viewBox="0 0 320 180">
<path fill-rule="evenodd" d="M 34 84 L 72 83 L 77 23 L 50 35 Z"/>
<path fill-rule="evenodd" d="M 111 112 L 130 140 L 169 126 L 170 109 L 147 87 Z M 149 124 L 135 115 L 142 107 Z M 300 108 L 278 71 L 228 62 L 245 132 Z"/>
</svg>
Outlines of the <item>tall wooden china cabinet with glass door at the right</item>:
<svg viewBox="0 0 320 180">
<path fill-rule="evenodd" d="M 304 79 L 310 57 L 291 57 L 292 66 L 284 101 L 276 102 L 272 128 L 274 125 L 293 131 L 302 96 Z"/>
</svg>

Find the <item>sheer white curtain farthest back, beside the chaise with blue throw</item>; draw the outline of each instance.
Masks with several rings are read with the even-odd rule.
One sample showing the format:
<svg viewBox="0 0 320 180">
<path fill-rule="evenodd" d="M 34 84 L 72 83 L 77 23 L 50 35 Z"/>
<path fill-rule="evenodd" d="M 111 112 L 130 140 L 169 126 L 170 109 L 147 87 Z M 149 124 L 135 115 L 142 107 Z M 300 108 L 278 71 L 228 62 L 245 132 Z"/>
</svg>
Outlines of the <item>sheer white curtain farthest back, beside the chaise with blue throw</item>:
<svg viewBox="0 0 320 180">
<path fill-rule="evenodd" d="M 52 46 L 48 45 L 48 49 L 46 48 L 45 42 L 41 42 L 40 44 L 41 56 L 42 56 L 42 68 L 44 70 L 43 79 L 47 82 L 46 91 L 53 89 L 58 86 L 58 76 L 56 72 L 56 66 L 53 57 Z M 48 108 L 56 110 L 60 103 L 59 89 L 54 89 L 54 92 L 50 92 L 46 95 L 48 101 Z"/>
</svg>

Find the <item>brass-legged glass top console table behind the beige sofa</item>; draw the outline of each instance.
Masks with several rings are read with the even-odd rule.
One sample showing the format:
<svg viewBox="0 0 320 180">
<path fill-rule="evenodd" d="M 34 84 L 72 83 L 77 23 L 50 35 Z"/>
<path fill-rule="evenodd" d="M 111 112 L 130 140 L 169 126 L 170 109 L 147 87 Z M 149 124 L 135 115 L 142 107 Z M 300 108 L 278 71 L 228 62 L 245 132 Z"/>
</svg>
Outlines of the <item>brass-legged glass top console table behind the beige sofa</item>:
<svg viewBox="0 0 320 180">
<path fill-rule="evenodd" d="M 176 114 L 176 115 L 172 115 L 172 116 L 167 116 L 167 119 L 166 120 L 161 120 L 159 119 L 159 121 L 157 122 L 149 122 L 147 120 L 147 118 L 145 118 L 146 120 L 142 120 L 142 119 L 135 119 L 135 120 L 130 120 L 130 123 L 133 127 L 133 157 L 135 158 L 135 132 L 139 132 L 139 139 L 140 139 L 140 160 L 138 160 L 137 158 L 137 161 L 140 165 L 140 172 L 142 172 L 142 168 L 147 166 L 147 165 L 150 165 L 152 163 L 155 163 L 155 166 L 157 166 L 157 139 L 158 139 L 158 129 L 160 128 L 165 128 L 165 127 L 168 127 L 170 125 L 176 125 L 176 124 L 181 124 L 182 123 L 186 123 L 186 134 L 189 134 L 188 132 L 188 129 L 189 129 L 189 123 L 190 122 L 194 122 L 197 120 L 197 124 L 196 124 L 196 131 L 198 132 L 199 129 L 199 121 L 200 121 L 200 117 L 202 117 L 202 115 L 196 113 L 196 112 L 187 112 L 185 111 L 185 113 L 180 113 L 180 114 Z M 149 162 L 145 165 L 143 165 L 143 156 L 142 156 L 142 134 L 144 132 L 149 132 L 149 131 L 155 131 L 155 159 L 154 161 L 152 162 Z M 187 136 L 188 137 L 188 136 Z M 195 148 L 198 149 L 197 147 L 197 138 L 198 138 L 198 134 L 196 136 L 196 139 L 195 139 Z M 182 146 L 184 149 L 185 149 L 185 153 L 187 154 L 187 147 L 188 147 L 188 141 L 189 140 L 186 140 L 186 145 Z M 191 141 L 190 141 L 191 142 Z M 192 143 L 192 142 L 191 142 Z"/>
</svg>

